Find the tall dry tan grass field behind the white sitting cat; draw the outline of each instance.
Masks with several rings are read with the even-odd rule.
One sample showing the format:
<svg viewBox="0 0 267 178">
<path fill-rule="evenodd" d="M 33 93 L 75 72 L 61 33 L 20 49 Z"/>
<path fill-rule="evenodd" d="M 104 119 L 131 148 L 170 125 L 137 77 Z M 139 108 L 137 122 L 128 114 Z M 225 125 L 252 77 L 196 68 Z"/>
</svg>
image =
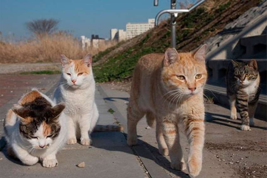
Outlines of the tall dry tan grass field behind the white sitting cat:
<svg viewBox="0 0 267 178">
<path fill-rule="evenodd" d="M 61 54 L 71 59 L 79 59 L 87 53 L 92 55 L 115 45 L 103 44 L 99 49 L 82 49 L 79 40 L 71 34 L 58 32 L 36 37 L 26 42 L 8 43 L 0 41 L 0 63 L 59 62 Z"/>
</svg>

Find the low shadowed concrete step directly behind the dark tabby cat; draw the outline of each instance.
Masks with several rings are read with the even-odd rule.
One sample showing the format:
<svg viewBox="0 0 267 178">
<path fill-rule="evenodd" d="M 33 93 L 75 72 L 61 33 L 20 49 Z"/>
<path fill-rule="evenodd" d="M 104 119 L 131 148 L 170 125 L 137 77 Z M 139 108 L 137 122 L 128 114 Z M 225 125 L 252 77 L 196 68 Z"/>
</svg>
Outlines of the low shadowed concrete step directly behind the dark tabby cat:
<svg viewBox="0 0 267 178">
<path fill-rule="evenodd" d="M 214 84 L 206 84 L 204 89 L 204 94 L 208 97 L 212 97 L 216 104 L 224 105 L 229 108 L 229 101 L 226 94 L 226 87 L 216 86 Z M 260 94 L 255 117 L 267 121 L 266 107 L 267 107 L 267 95 Z"/>
</svg>

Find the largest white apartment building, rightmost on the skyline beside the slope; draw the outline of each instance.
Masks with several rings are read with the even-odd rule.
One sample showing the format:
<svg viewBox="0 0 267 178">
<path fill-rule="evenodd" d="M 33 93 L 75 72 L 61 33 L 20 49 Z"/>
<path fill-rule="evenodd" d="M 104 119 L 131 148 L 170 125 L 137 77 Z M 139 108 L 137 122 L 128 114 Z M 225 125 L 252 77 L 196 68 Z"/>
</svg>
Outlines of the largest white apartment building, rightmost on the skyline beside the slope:
<svg viewBox="0 0 267 178">
<path fill-rule="evenodd" d="M 155 26 L 155 19 L 148 19 L 148 23 L 127 23 L 126 39 L 134 38 Z"/>
</svg>

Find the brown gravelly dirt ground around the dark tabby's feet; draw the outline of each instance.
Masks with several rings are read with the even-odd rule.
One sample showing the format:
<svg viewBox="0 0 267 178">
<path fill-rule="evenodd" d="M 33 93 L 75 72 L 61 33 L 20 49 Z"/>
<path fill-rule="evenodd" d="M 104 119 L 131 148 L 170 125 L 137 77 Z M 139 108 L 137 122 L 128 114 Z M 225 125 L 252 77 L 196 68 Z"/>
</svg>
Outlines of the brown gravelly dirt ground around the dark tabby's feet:
<svg viewBox="0 0 267 178">
<path fill-rule="evenodd" d="M 111 89 L 130 92 L 130 80 L 106 83 Z M 214 156 L 204 161 L 212 167 L 228 167 L 235 172 L 232 177 L 267 177 L 267 125 L 266 120 L 254 119 L 251 131 L 239 129 L 241 120 L 231 120 L 230 111 L 215 104 L 206 104 L 206 133 L 204 149 Z M 158 151 L 149 148 L 155 157 L 164 159 Z M 162 163 L 163 166 L 165 163 Z"/>
</svg>

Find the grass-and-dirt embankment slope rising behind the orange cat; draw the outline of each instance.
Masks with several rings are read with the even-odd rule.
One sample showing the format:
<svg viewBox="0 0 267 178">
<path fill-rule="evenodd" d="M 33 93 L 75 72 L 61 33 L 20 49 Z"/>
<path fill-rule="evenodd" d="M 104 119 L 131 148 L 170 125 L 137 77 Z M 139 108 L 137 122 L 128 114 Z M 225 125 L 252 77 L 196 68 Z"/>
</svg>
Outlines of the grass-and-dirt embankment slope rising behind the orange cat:
<svg viewBox="0 0 267 178">
<path fill-rule="evenodd" d="M 224 26 L 237 19 L 249 8 L 256 6 L 260 0 L 208 0 L 191 13 L 177 18 L 178 51 L 191 51 L 203 44 L 208 38 L 223 30 Z M 97 82 L 121 80 L 132 76 L 137 60 L 149 53 L 163 53 L 171 46 L 171 32 L 168 22 L 143 34 L 142 39 L 134 45 L 125 47 L 115 55 L 109 56 L 104 62 L 94 66 Z M 117 45 L 116 47 L 119 47 Z M 99 61 L 105 55 L 116 49 L 112 47 L 94 58 Z"/>
</svg>

